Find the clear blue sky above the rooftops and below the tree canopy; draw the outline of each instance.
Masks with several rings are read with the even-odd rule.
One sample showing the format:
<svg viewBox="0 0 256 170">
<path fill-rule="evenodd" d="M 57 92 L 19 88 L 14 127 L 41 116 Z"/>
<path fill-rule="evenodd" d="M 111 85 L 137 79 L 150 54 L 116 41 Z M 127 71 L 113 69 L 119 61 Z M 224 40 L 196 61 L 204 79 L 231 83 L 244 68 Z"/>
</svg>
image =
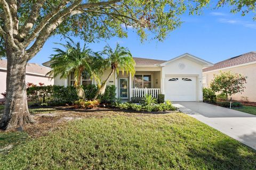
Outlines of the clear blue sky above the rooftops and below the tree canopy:
<svg viewBox="0 0 256 170">
<path fill-rule="evenodd" d="M 118 42 L 130 49 L 134 57 L 170 60 L 183 53 L 190 53 L 212 63 L 240 54 L 256 51 L 256 21 L 253 14 L 241 16 L 230 13 L 230 8 L 218 10 L 206 9 L 202 15 L 182 15 L 184 23 L 171 32 L 163 42 L 145 41 L 129 29 L 128 38 L 111 38 L 100 43 L 88 44 L 94 51 L 102 50 L 108 43 L 113 48 Z M 60 42 L 60 36 L 51 37 L 43 49 L 30 63 L 42 64 L 53 54 L 54 42 Z M 76 41 L 79 41 L 76 38 Z"/>
</svg>

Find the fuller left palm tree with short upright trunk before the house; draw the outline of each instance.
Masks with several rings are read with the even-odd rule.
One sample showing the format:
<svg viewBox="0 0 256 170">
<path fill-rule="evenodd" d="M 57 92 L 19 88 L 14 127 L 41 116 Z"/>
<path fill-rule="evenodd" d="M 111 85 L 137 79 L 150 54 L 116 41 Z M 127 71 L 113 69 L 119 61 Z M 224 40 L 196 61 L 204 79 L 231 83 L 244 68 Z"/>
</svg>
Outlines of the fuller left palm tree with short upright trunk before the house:
<svg viewBox="0 0 256 170">
<path fill-rule="evenodd" d="M 66 44 L 59 44 L 65 49 L 54 48 L 57 54 L 51 55 L 50 65 L 52 70 L 47 73 L 51 77 L 60 75 L 61 79 L 67 79 L 71 73 L 74 73 L 74 87 L 77 90 L 77 95 L 80 98 L 85 98 L 84 90 L 80 85 L 81 77 L 84 72 L 87 72 L 91 78 L 95 80 L 100 79 L 102 73 L 100 65 L 102 65 L 103 58 L 85 45 L 81 47 L 80 43 L 74 43 L 73 40 L 68 38 Z"/>
</svg>

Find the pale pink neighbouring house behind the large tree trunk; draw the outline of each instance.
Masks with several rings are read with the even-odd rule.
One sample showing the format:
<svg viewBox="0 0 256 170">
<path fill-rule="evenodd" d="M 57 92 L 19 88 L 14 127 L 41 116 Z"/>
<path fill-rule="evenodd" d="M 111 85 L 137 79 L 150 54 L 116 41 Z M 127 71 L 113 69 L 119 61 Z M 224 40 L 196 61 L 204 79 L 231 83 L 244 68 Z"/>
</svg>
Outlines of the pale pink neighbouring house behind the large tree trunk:
<svg viewBox="0 0 256 170">
<path fill-rule="evenodd" d="M 6 90 L 6 60 L 0 60 L 0 93 L 5 92 Z M 35 63 L 28 63 L 26 66 L 26 83 L 31 82 L 34 84 L 44 83 L 45 85 L 54 84 L 53 79 L 49 79 L 45 74 L 49 72 L 51 69 L 49 67 L 40 66 Z M 0 95 L 0 100 L 2 100 L 3 96 Z"/>
</svg>

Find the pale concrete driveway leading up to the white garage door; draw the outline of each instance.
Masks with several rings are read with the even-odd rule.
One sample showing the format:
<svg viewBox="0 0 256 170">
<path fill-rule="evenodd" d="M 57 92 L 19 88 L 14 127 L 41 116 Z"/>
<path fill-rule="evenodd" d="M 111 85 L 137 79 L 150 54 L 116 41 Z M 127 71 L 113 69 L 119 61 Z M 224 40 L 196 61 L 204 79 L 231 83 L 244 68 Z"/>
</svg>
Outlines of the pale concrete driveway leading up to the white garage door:
<svg viewBox="0 0 256 170">
<path fill-rule="evenodd" d="M 256 149 L 256 115 L 202 102 L 174 102 L 181 112 Z"/>
</svg>

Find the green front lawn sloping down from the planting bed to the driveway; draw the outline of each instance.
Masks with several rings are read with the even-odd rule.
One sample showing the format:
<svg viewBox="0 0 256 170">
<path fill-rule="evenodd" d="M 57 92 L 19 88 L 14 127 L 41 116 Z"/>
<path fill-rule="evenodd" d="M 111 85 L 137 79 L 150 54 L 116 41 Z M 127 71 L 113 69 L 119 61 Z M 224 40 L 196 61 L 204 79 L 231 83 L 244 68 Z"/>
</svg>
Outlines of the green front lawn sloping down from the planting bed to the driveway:
<svg viewBox="0 0 256 170">
<path fill-rule="evenodd" d="M 71 121 L 44 137 L 28 138 L 0 154 L 0 169 L 256 167 L 253 149 L 185 114 L 106 115 Z M 17 132 L 0 133 L 4 145 L 12 135 Z"/>
</svg>

